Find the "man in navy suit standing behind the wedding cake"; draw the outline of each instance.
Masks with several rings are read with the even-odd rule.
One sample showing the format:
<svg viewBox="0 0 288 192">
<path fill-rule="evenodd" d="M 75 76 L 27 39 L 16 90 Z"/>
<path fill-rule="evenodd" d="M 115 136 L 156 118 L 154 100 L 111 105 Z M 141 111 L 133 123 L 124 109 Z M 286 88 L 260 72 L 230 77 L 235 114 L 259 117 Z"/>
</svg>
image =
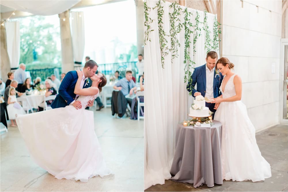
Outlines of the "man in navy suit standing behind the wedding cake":
<svg viewBox="0 0 288 192">
<path fill-rule="evenodd" d="M 211 99 L 221 95 L 219 88 L 223 80 L 223 75 L 221 73 L 216 74 L 215 66 L 217 58 L 217 53 L 215 51 L 210 51 L 206 56 L 206 64 L 194 69 L 192 77 L 186 87 L 189 93 L 192 92 L 193 97 L 202 95 L 203 97 Z M 197 90 L 195 89 L 196 83 Z M 206 107 L 213 112 L 212 119 L 214 119 L 218 106 L 219 103 L 215 104 L 206 102 Z"/>
</svg>

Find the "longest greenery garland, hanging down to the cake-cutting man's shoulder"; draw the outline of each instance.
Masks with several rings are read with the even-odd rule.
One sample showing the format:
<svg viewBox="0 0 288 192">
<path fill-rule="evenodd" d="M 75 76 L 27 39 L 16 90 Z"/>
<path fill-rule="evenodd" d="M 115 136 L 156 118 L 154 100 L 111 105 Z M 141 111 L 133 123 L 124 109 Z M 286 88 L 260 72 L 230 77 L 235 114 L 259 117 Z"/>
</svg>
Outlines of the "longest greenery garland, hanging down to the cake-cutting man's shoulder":
<svg viewBox="0 0 288 192">
<path fill-rule="evenodd" d="M 185 41 L 184 41 L 185 42 L 185 48 L 184 48 L 184 64 L 185 64 L 185 66 L 184 66 L 184 71 L 185 71 L 184 82 L 186 83 L 187 80 L 192 75 L 192 73 L 190 71 L 191 64 L 193 65 L 195 62 L 193 62 L 191 60 L 190 52 L 189 52 L 189 48 L 190 48 L 190 44 L 191 44 L 190 37 L 191 37 L 191 34 L 193 33 L 193 31 L 190 30 L 190 28 L 193 27 L 192 23 L 190 22 L 190 18 L 192 16 L 192 13 L 188 12 L 187 7 L 183 13 L 185 14 L 183 26 L 184 26 L 184 30 L 185 30 L 185 35 L 184 35 L 184 38 L 185 38 Z"/>
</svg>

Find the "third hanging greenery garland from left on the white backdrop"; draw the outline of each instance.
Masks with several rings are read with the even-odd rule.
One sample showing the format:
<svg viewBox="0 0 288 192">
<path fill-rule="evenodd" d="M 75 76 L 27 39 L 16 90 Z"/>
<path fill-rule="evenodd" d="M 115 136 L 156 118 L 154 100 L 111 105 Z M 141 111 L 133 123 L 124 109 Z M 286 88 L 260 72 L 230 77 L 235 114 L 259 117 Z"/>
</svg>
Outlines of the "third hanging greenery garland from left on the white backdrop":
<svg viewBox="0 0 288 192">
<path fill-rule="evenodd" d="M 182 10 L 181 7 L 179 5 L 177 5 L 176 1 L 174 3 L 172 3 L 169 6 L 171 9 L 173 9 L 173 12 L 170 13 L 169 12 L 169 18 L 170 18 L 170 37 L 171 37 L 171 63 L 172 60 L 176 57 L 178 57 L 178 49 L 180 47 L 180 43 L 179 43 L 179 39 L 177 38 L 177 33 L 180 33 L 181 28 L 182 28 L 182 24 L 180 22 L 180 11 Z M 178 22 L 178 24 L 177 24 Z"/>
</svg>

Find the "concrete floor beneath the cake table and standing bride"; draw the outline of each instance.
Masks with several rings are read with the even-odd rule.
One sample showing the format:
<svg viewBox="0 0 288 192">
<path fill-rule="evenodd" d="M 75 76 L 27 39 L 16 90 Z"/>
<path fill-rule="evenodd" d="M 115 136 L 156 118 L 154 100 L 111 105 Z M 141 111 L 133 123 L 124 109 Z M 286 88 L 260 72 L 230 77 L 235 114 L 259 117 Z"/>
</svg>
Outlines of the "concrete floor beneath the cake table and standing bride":
<svg viewBox="0 0 288 192">
<path fill-rule="evenodd" d="M 272 177 L 265 181 L 223 181 L 214 187 L 202 185 L 197 189 L 190 183 L 166 180 L 145 191 L 288 191 L 288 126 L 277 125 L 256 134 L 262 156 L 270 163 Z M 239 144 L 241 145 L 241 144 Z"/>
</svg>

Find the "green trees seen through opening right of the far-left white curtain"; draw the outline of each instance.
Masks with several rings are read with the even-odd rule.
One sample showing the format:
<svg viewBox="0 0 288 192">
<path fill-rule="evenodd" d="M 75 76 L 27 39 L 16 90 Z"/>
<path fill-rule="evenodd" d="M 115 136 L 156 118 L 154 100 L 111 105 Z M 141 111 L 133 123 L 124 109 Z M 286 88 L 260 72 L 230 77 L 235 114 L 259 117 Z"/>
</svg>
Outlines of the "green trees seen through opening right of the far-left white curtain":
<svg viewBox="0 0 288 192">
<path fill-rule="evenodd" d="M 44 16 L 31 16 L 20 20 L 20 63 L 29 68 L 43 69 L 60 66 L 61 52 L 56 41 L 60 39 L 60 27 Z M 47 66 L 49 64 L 50 66 Z"/>
</svg>

